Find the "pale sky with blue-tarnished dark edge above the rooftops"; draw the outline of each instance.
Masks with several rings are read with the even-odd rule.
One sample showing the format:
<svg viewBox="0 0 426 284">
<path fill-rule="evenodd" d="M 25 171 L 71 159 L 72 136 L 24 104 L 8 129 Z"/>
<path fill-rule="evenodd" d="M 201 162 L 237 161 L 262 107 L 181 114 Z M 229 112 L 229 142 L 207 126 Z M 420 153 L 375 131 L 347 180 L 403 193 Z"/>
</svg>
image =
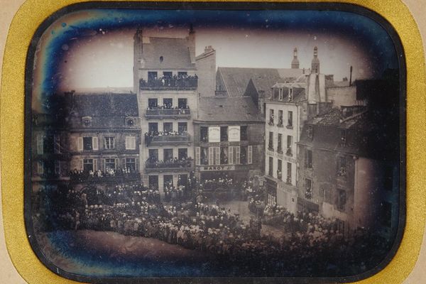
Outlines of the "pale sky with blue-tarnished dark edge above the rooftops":
<svg viewBox="0 0 426 284">
<path fill-rule="evenodd" d="M 196 54 L 217 50 L 219 67 L 289 68 L 293 49 L 335 80 L 380 77 L 398 67 L 388 33 L 375 21 L 339 11 L 191 11 L 94 9 L 68 13 L 43 33 L 35 53 L 35 94 L 133 84 L 133 34 L 183 38 L 192 23 Z"/>
</svg>

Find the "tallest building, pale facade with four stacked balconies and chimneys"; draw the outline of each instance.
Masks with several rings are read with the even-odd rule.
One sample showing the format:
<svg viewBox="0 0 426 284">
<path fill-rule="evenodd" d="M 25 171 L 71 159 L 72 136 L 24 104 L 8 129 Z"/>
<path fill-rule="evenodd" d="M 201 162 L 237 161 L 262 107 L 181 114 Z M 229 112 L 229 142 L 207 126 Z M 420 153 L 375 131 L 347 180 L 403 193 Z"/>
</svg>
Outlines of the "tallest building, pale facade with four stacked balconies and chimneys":
<svg viewBox="0 0 426 284">
<path fill-rule="evenodd" d="M 143 182 L 163 190 L 185 185 L 193 170 L 197 115 L 195 31 L 186 38 L 134 36 L 134 86 L 141 116 Z"/>
</svg>

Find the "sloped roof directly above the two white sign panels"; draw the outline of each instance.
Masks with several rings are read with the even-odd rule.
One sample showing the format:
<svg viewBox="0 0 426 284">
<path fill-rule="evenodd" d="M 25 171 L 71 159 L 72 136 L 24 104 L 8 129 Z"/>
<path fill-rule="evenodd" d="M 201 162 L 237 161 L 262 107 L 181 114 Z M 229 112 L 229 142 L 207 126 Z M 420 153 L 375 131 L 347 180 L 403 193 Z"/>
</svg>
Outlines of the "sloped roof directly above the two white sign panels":
<svg viewBox="0 0 426 284">
<path fill-rule="evenodd" d="M 201 97 L 199 121 L 264 121 L 251 97 Z"/>
</svg>

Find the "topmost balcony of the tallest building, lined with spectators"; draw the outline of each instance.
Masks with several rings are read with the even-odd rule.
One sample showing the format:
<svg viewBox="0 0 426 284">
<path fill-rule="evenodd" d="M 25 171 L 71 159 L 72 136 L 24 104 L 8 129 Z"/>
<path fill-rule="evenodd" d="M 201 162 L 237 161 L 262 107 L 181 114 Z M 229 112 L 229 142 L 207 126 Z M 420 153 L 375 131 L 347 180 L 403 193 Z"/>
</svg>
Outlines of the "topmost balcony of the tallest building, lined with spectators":
<svg viewBox="0 0 426 284">
<path fill-rule="evenodd" d="M 162 78 L 149 79 L 148 81 L 141 79 L 139 87 L 140 89 L 197 89 L 198 78 Z"/>
</svg>

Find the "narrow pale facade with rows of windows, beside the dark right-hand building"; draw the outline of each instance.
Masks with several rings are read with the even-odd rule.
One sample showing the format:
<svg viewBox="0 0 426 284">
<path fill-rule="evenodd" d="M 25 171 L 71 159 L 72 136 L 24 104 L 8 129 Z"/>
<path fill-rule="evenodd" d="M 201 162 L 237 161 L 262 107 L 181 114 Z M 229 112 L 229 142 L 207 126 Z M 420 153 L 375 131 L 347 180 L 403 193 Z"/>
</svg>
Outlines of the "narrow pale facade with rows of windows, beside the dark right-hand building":
<svg viewBox="0 0 426 284">
<path fill-rule="evenodd" d="M 297 141 L 307 108 L 305 80 L 274 84 L 266 102 L 266 187 L 268 203 L 297 209 Z"/>
</svg>

